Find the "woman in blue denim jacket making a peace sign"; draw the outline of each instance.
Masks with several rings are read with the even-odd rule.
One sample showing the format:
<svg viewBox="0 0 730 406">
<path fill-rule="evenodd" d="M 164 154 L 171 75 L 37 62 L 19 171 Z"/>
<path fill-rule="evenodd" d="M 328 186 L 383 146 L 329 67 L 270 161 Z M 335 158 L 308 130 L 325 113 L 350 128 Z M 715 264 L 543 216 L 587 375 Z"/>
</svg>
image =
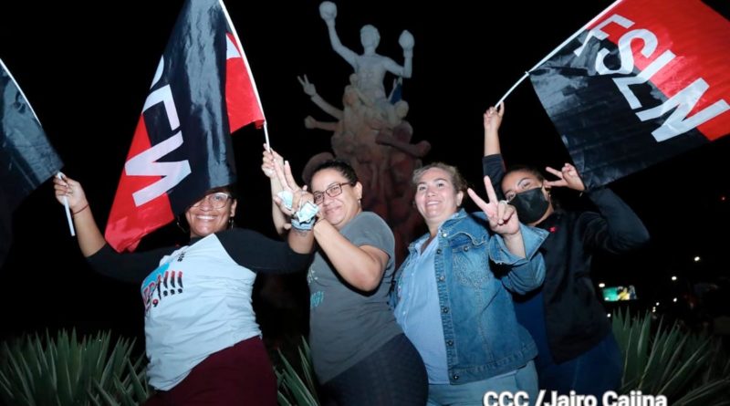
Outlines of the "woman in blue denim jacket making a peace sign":
<svg viewBox="0 0 730 406">
<path fill-rule="evenodd" d="M 471 214 L 460 209 L 466 185 L 453 166 L 427 165 L 413 183 L 429 233 L 409 246 L 392 298 L 426 365 L 428 404 L 482 405 L 490 390 L 525 390 L 536 399 L 537 348 L 517 324 L 507 290 L 540 286 L 545 265 L 537 248 L 547 232 L 520 224 L 513 206 L 497 203 L 488 178 L 489 203 L 468 190 L 484 211 Z"/>
</svg>

